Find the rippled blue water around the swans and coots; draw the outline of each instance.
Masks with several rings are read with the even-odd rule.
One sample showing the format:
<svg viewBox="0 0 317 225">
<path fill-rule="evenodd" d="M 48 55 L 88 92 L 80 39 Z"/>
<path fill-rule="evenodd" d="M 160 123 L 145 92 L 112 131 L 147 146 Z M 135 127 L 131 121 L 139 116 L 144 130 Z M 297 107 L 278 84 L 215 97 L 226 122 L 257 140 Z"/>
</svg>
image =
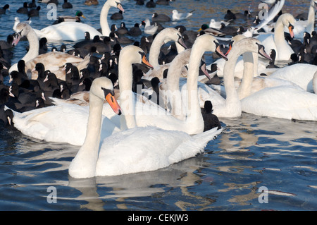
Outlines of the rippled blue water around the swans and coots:
<svg viewBox="0 0 317 225">
<path fill-rule="evenodd" d="M 11 1 L 0 17 L 0 39 L 13 32 L 16 9 L 22 1 Z M 85 6 L 84 0 L 70 1 L 82 10 L 85 23 L 99 28 L 102 4 Z M 99 1 L 103 3 L 104 1 Z M 4 4 L 4 1 L 1 1 Z M 154 9 L 122 1 L 128 28 L 151 16 L 154 11 L 171 16 L 173 8 L 195 13 L 182 21 L 189 30 L 198 30 L 211 18 L 223 19 L 227 8 L 257 10 L 257 1 L 180 1 Z M 51 24 L 45 4 L 32 26 Z M 296 6 L 296 7 L 295 7 Z M 287 1 L 283 11 L 307 11 L 308 1 Z M 116 12 L 111 8 L 109 14 Z M 18 15 L 20 20 L 26 16 Z M 111 22 L 110 22 L 111 23 Z M 113 21 L 120 25 L 120 20 Z M 247 25 L 237 21 L 235 25 Z M 178 24 L 178 23 L 175 23 Z M 165 27 L 174 23 L 163 23 Z M 137 40 L 139 37 L 135 38 Z M 49 43 L 59 47 L 63 43 Z M 70 48 L 73 43 L 66 43 Z M 27 42 L 14 50 L 13 63 L 25 54 Z M 208 58 L 212 61 L 211 58 Z M 211 140 L 205 153 L 158 171 L 124 176 L 75 180 L 68 166 L 78 147 L 35 140 L 16 130 L 0 129 L 0 209 L 1 210 L 316 210 L 317 209 L 317 122 L 288 121 L 242 114 L 221 118 L 225 131 Z M 268 195 L 259 190 L 268 189 Z M 56 199 L 52 196 L 56 194 Z M 54 202 L 56 200 L 56 202 Z M 262 203 L 261 203 L 262 202 Z M 266 203 L 267 202 L 267 203 Z M 125 219 L 125 218 L 124 218 Z"/>
</svg>

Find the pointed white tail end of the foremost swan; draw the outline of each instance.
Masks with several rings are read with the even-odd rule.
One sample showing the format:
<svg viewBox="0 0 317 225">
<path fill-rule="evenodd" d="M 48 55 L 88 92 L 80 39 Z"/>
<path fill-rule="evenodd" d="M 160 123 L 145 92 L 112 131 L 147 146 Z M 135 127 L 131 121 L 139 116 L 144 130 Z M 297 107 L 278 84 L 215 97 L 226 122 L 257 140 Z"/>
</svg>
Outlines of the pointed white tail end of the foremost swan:
<svg viewBox="0 0 317 225">
<path fill-rule="evenodd" d="M 214 140 L 222 131 L 223 129 L 217 130 L 217 128 L 213 128 L 194 135 L 189 140 L 182 142 L 182 144 L 180 144 L 168 157 L 170 164 L 180 162 L 184 159 L 189 159 L 204 152 L 204 147 L 206 147 L 208 142 Z"/>
</svg>

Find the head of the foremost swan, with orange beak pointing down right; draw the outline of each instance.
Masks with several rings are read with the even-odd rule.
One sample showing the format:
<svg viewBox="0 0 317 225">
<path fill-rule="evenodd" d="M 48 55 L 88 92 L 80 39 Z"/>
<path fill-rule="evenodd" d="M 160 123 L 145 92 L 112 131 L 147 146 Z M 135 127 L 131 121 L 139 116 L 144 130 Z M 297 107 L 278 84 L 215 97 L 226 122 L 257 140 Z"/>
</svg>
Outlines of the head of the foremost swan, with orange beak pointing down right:
<svg viewBox="0 0 317 225">
<path fill-rule="evenodd" d="M 121 108 L 114 97 L 113 84 L 110 79 L 106 77 L 94 79 L 90 87 L 90 95 L 97 96 L 103 101 L 106 100 L 116 114 L 121 114 Z"/>
</svg>

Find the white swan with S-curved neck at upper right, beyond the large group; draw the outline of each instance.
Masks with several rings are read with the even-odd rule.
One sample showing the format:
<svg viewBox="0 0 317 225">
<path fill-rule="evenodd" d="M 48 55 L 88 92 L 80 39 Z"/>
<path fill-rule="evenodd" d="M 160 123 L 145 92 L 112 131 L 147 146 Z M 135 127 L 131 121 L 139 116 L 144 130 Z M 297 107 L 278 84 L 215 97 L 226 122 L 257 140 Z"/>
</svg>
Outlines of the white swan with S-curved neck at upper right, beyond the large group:
<svg viewBox="0 0 317 225">
<path fill-rule="evenodd" d="M 290 36 L 294 37 L 294 23 L 294 16 L 289 13 L 284 13 L 275 23 L 274 35 L 265 34 L 256 37 L 261 41 L 266 49 L 274 49 L 276 51 L 276 61 L 290 61 L 290 56 L 294 53 L 293 49 L 289 44 L 287 44 L 284 37 L 284 26 L 288 28 Z"/>
</svg>

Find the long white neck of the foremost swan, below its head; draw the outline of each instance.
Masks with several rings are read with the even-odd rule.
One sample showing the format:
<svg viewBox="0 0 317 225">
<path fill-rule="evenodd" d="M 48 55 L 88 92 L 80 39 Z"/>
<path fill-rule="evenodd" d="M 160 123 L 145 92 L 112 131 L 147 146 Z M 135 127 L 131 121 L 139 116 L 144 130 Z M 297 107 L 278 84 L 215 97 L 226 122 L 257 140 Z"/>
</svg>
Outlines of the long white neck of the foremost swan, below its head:
<svg viewBox="0 0 317 225">
<path fill-rule="evenodd" d="M 93 95 L 92 92 L 89 94 L 89 116 L 86 138 L 70 164 L 69 174 L 72 177 L 89 178 L 96 174 L 103 104 L 103 99 Z"/>
</svg>

